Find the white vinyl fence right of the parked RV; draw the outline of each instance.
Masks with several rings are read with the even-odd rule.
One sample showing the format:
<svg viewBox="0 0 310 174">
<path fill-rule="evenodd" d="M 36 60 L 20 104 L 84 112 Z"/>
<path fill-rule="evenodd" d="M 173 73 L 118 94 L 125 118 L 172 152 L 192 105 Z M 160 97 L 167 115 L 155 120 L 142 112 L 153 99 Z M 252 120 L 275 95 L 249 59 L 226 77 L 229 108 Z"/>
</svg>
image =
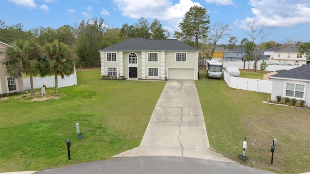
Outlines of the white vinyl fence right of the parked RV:
<svg viewBox="0 0 310 174">
<path fill-rule="evenodd" d="M 272 80 L 239 78 L 230 76 L 226 71 L 223 73 L 224 80 L 230 88 L 271 94 Z"/>
</svg>

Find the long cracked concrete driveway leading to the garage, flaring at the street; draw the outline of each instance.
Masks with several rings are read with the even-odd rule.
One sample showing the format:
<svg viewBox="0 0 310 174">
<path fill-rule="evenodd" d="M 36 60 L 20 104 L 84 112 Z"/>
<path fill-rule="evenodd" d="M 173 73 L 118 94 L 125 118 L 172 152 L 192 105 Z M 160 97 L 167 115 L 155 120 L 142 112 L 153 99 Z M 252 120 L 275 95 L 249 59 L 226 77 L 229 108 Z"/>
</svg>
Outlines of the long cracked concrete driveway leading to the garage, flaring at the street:
<svg viewBox="0 0 310 174">
<path fill-rule="evenodd" d="M 169 80 L 139 147 L 113 157 L 175 156 L 236 163 L 210 149 L 193 80 Z"/>
</svg>

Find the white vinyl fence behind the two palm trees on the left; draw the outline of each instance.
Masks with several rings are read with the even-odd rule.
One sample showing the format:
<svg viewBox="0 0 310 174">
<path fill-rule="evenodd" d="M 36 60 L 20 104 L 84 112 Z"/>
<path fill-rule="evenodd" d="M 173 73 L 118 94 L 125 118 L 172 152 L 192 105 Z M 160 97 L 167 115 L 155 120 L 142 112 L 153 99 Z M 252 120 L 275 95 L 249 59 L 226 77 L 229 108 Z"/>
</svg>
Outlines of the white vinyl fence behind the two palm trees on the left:
<svg viewBox="0 0 310 174">
<path fill-rule="evenodd" d="M 47 88 L 55 87 L 55 76 L 49 76 L 49 77 L 34 77 L 33 79 L 33 88 L 34 89 L 40 89 L 43 84 L 46 85 Z M 74 74 L 71 74 L 70 76 L 64 76 L 64 79 L 62 79 L 62 76 L 58 76 L 58 87 L 66 87 L 66 86 L 73 86 L 77 85 L 77 72 L 74 71 Z M 23 78 L 23 85 L 24 90 L 30 90 L 30 78 Z"/>
</svg>

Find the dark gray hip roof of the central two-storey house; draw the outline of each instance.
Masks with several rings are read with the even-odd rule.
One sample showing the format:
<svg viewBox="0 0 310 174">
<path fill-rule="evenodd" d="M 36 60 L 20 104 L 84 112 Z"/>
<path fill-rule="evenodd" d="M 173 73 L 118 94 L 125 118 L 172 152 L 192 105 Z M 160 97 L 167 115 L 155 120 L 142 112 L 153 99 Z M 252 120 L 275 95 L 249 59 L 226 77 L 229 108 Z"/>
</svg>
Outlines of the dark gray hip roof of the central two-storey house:
<svg viewBox="0 0 310 174">
<path fill-rule="evenodd" d="M 199 51 L 176 39 L 130 38 L 99 51 Z"/>
</svg>

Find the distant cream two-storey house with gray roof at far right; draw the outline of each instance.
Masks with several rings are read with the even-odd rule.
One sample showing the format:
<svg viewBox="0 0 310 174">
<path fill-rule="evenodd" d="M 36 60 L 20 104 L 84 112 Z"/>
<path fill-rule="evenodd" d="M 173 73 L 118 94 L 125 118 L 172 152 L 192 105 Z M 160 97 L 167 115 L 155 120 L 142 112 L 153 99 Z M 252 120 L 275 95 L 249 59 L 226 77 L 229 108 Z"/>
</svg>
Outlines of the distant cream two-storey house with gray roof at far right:
<svg viewBox="0 0 310 174">
<path fill-rule="evenodd" d="M 306 54 L 298 53 L 298 47 L 287 47 L 274 52 L 274 64 L 303 65 L 307 64 Z"/>
</svg>

